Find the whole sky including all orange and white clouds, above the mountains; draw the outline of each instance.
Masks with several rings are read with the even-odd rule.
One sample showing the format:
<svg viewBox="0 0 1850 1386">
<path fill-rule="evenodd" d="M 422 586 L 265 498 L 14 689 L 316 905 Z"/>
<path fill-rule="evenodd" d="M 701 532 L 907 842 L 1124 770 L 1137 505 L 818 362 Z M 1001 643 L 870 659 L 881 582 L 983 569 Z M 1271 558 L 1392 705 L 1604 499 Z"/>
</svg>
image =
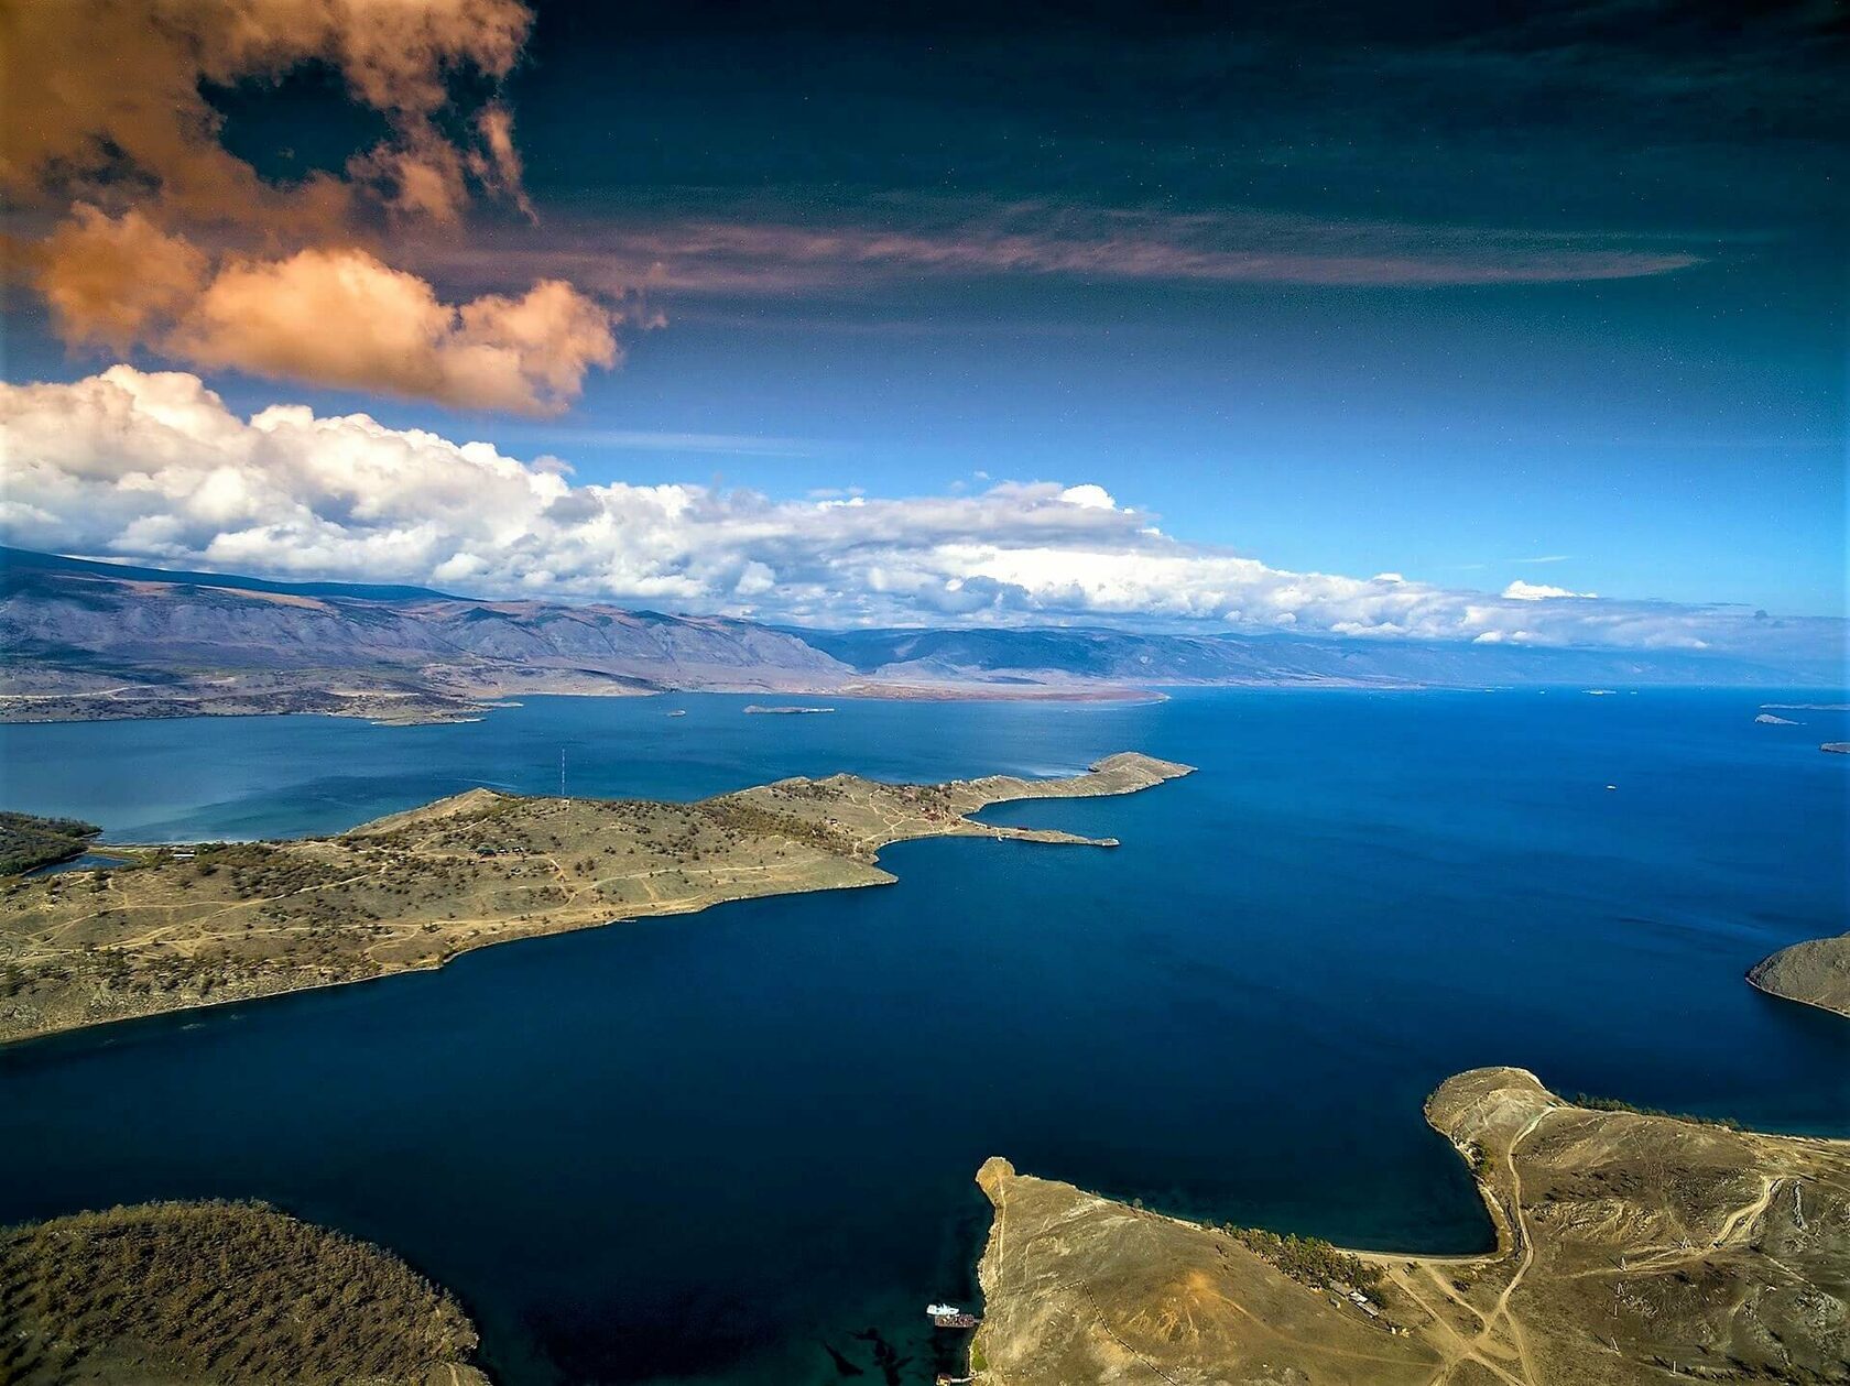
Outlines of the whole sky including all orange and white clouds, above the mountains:
<svg viewBox="0 0 1850 1386">
<path fill-rule="evenodd" d="M 1417 11 L 18 7 L 0 537 L 1841 650 L 1841 9 Z"/>
</svg>

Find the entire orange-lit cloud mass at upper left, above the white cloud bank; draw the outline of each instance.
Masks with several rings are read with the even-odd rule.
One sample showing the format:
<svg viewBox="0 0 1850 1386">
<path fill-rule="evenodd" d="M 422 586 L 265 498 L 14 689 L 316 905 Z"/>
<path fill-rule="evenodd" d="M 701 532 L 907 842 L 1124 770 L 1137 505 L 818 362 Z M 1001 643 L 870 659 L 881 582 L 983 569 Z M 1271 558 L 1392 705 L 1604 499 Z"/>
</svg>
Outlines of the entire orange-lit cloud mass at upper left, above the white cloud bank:
<svg viewBox="0 0 1850 1386">
<path fill-rule="evenodd" d="M 20 254 L 65 340 L 522 413 L 618 363 L 622 315 L 559 278 L 448 303 L 364 248 L 368 207 L 446 226 L 481 189 L 531 217 L 511 111 L 457 111 L 450 83 L 507 76 L 522 0 L 61 0 L 11 24 L 0 78 L 30 118 L 0 122 L 0 191 L 65 207 Z M 303 63 L 387 133 L 279 185 L 224 148 L 200 85 Z"/>
</svg>

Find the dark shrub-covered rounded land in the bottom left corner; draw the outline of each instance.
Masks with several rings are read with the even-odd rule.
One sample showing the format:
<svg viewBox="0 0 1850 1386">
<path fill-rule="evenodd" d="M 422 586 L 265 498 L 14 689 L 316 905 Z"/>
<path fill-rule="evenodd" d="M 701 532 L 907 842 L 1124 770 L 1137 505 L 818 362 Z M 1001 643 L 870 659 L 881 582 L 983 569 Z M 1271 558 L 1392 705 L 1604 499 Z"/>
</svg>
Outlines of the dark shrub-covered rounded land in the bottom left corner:
<svg viewBox="0 0 1850 1386">
<path fill-rule="evenodd" d="M 0 1380 L 15 1386 L 487 1386 L 477 1342 L 398 1256 L 263 1203 L 0 1229 Z"/>
</svg>

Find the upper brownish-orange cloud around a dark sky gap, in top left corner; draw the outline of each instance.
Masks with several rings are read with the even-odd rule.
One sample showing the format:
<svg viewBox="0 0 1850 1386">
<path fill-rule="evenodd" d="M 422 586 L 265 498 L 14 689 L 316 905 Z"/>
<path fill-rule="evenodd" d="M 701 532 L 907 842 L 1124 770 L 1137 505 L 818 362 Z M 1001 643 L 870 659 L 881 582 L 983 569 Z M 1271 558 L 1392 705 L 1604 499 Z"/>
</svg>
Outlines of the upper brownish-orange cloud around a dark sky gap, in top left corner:
<svg viewBox="0 0 1850 1386">
<path fill-rule="evenodd" d="M 522 0 L 56 0 L 15 7 L 4 80 L 30 118 L 0 128 L 0 187 L 59 205 L 133 183 L 185 220 L 296 229 L 324 226 L 359 189 L 331 174 L 285 187 L 220 142 L 202 85 L 276 81 L 326 63 L 348 94 L 385 118 L 387 135 L 355 155 L 355 183 L 453 217 L 470 154 L 503 170 L 500 133 L 468 150 L 440 133 L 448 78 L 490 81 L 512 70 L 533 22 Z M 488 107 L 496 109 L 494 105 Z M 411 187 L 405 185 L 409 179 Z"/>
</svg>

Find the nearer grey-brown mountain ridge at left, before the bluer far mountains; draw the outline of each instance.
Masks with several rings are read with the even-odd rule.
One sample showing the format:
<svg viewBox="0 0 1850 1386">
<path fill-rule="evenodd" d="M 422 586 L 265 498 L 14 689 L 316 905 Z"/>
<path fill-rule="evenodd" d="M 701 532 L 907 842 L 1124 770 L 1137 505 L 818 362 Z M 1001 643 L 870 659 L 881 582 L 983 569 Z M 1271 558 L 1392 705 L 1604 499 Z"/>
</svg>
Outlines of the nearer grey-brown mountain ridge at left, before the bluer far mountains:
<svg viewBox="0 0 1850 1386">
<path fill-rule="evenodd" d="M 0 553 L 13 720 L 331 711 L 426 720 L 518 692 L 836 688 L 794 635 L 718 616 L 474 601 Z"/>
</svg>

